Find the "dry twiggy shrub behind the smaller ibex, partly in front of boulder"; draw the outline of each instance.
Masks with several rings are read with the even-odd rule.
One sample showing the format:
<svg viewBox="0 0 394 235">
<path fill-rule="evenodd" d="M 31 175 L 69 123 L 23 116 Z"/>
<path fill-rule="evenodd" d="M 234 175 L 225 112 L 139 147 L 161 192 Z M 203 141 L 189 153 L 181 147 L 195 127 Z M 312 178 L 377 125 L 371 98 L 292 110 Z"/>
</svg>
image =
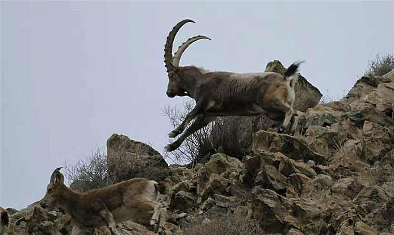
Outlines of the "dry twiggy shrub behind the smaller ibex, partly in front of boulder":
<svg viewBox="0 0 394 235">
<path fill-rule="evenodd" d="M 112 154 L 111 167 L 108 167 L 105 149 L 97 148 L 73 165 L 66 162 L 65 176 L 70 187 L 78 192 L 103 188 L 136 177 L 154 180 L 164 178 L 164 171 L 154 161 L 149 164 L 149 157 L 140 154 L 126 157 L 124 153 L 117 152 Z M 144 158 L 143 161 L 141 158 Z"/>
</svg>

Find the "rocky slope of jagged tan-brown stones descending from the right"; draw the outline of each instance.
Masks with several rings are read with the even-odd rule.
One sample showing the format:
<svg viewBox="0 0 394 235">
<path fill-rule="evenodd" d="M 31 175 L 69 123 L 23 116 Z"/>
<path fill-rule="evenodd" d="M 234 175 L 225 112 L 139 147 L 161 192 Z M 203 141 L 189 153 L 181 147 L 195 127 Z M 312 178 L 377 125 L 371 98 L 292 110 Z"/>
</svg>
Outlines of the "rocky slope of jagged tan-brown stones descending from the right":
<svg viewBox="0 0 394 235">
<path fill-rule="evenodd" d="M 108 164 L 117 146 L 129 158 L 160 165 L 165 173 L 154 177 L 172 187 L 161 199 L 169 208 L 167 235 L 185 234 L 188 224 L 215 210 L 254 220 L 264 234 L 394 234 L 393 71 L 364 76 L 342 100 L 307 109 L 300 126 L 302 135 L 295 137 L 258 131 L 250 156 L 217 153 L 192 169 L 168 167 L 157 151 L 113 135 Z M 140 148 L 144 154 L 138 155 Z M 47 211 L 35 203 L 8 211 L 10 234 L 70 234 L 70 218 L 61 209 Z M 119 227 L 129 235 L 154 234 L 140 223 Z M 202 221 L 207 228 L 210 223 Z M 95 232 L 109 234 L 105 228 Z"/>
</svg>

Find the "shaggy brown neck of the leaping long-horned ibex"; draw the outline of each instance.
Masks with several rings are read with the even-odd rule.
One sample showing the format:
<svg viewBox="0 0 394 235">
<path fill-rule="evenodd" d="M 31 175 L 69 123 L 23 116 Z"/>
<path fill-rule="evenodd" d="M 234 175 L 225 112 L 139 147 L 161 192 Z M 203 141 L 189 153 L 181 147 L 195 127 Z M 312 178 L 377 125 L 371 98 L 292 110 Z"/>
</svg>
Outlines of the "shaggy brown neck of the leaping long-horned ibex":
<svg viewBox="0 0 394 235">
<path fill-rule="evenodd" d="M 197 94 L 195 94 L 197 81 L 201 80 L 203 77 L 203 74 L 206 72 L 207 71 L 205 71 L 204 69 L 196 67 L 196 66 L 180 67 L 180 76 L 184 82 L 183 88 L 192 97 L 195 97 L 197 95 Z"/>
</svg>

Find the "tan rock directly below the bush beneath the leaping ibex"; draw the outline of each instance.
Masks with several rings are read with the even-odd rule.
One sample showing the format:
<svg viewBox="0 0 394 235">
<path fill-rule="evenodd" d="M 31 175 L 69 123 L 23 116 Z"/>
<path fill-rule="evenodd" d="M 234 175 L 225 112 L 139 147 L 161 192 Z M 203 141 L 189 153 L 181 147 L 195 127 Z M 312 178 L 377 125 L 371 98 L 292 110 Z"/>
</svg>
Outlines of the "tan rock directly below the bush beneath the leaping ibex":
<svg viewBox="0 0 394 235">
<path fill-rule="evenodd" d="M 236 158 L 230 157 L 223 153 L 217 153 L 211 156 L 211 159 L 205 164 L 207 175 L 222 174 L 224 172 L 232 172 L 240 167 L 242 162 Z"/>
</svg>

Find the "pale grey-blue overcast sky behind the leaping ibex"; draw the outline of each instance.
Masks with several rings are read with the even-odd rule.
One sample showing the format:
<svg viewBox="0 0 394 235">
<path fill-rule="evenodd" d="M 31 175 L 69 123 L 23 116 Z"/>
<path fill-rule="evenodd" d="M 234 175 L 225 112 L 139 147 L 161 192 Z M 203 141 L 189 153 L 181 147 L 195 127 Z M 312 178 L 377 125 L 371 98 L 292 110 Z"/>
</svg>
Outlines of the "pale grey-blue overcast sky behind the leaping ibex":
<svg viewBox="0 0 394 235">
<path fill-rule="evenodd" d="M 113 134 L 163 152 L 172 130 L 165 39 L 182 19 L 181 65 L 259 72 L 306 60 L 301 74 L 331 97 L 368 59 L 394 48 L 389 2 L 1 2 L 1 198 L 41 199 L 52 171 L 105 147 Z"/>
</svg>

